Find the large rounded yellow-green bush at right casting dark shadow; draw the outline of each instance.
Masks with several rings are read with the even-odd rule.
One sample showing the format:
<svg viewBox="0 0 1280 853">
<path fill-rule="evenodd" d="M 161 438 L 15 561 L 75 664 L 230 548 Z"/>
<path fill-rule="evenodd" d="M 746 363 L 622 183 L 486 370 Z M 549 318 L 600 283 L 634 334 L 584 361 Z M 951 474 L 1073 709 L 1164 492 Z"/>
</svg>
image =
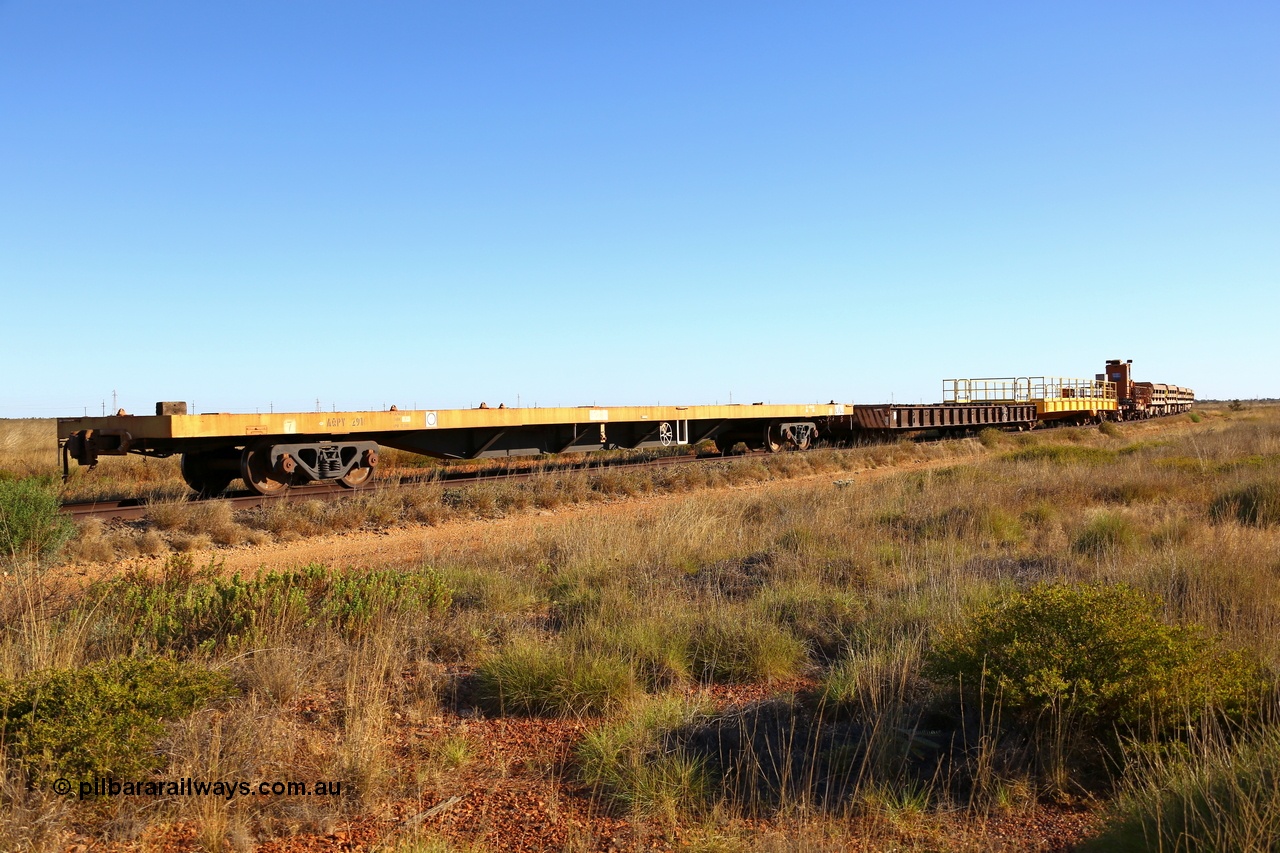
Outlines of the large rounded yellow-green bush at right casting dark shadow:
<svg viewBox="0 0 1280 853">
<path fill-rule="evenodd" d="M 940 637 L 928 671 L 1028 722 L 1068 715 L 1093 729 L 1167 730 L 1206 710 L 1247 708 L 1257 667 L 1198 626 L 1161 622 L 1157 610 L 1126 584 L 1038 584 Z"/>
</svg>

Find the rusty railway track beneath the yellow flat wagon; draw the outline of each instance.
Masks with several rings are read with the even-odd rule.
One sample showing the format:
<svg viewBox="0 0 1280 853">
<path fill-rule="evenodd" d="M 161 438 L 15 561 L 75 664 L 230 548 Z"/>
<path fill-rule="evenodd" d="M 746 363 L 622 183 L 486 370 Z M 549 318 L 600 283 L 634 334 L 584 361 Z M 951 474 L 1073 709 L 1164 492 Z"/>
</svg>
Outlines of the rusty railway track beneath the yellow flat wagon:
<svg viewBox="0 0 1280 853">
<path fill-rule="evenodd" d="M 344 498 L 356 497 L 358 494 L 367 494 L 370 492 L 383 491 L 383 489 L 401 489 L 412 488 L 417 485 L 424 485 L 429 483 L 439 483 L 448 485 L 470 485 L 477 483 L 497 483 L 497 482 L 511 482 L 511 480 L 527 480 L 535 476 L 547 476 L 553 474 L 590 474 L 600 473 L 607 470 L 635 470 L 644 467 L 669 467 L 672 465 L 689 465 L 695 462 L 705 461 L 740 461 L 749 459 L 759 459 L 763 456 L 771 456 L 768 451 L 748 451 L 744 453 L 735 455 L 722 455 L 722 453 L 709 453 L 709 455 L 687 455 L 687 456 L 659 456 L 655 459 L 645 459 L 639 461 L 617 461 L 617 462 L 591 462 L 588 465 L 566 465 L 556 467 L 534 467 L 524 470 L 477 470 L 477 471 L 457 471 L 453 474 L 434 475 L 434 476 L 415 476 L 415 478 L 402 478 L 399 480 L 387 480 L 381 483 L 375 483 L 369 488 L 362 489 L 349 489 L 335 484 L 317 484 L 317 485 L 301 485 L 294 487 L 282 494 L 255 494 L 252 492 L 232 492 L 225 496 L 218 496 L 211 498 L 200 498 L 192 496 L 188 498 L 192 503 L 200 501 L 223 501 L 229 503 L 233 510 L 248 510 L 259 506 L 268 506 L 270 503 L 284 502 L 297 502 L 297 501 L 340 501 Z M 124 498 L 120 501 L 86 501 L 81 503 L 64 503 L 61 511 L 76 520 L 82 519 L 101 519 L 106 520 L 122 520 L 122 521 L 136 521 L 138 519 L 146 517 L 151 506 L 142 498 Z"/>
</svg>

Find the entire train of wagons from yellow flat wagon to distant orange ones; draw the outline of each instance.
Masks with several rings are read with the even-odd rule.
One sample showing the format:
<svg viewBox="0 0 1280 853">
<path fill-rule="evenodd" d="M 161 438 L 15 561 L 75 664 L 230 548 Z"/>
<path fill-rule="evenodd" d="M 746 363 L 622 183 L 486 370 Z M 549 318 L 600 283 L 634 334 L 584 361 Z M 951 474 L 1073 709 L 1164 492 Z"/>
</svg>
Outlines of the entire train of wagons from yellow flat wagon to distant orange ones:
<svg viewBox="0 0 1280 853">
<path fill-rule="evenodd" d="M 492 459 L 655 448 L 714 442 L 730 452 L 806 450 L 892 433 L 964 434 L 993 426 L 1093 424 L 1171 415 L 1190 409 L 1189 388 L 1137 383 L 1132 361 L 1107 361 L 1093 379 L 1020 377 L 947 379 L 929 405 L 828 403 L 730 406 L 580 406 L 573 409 L 440 409 L 288 414 L 187 414 L 182 402 L 155 415 L 60 418 L 63 474 L 70 460 L 101 456 L 182 456 L 182 476 L 211 496 L 241 479 L 259 494 L 314 480 L 361 488 L 374 480 L 378 450 L 438 459 Z"/>
</svg>

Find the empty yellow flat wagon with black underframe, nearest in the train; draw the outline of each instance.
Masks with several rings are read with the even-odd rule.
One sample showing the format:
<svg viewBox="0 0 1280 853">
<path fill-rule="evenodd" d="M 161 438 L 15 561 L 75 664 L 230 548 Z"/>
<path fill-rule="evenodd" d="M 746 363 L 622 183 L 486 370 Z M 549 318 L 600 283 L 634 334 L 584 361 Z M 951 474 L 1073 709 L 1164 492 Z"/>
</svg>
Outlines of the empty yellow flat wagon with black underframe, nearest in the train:
<svg viewBox="0 0 1280 853">
<path fill-rule="evenodd" d="M 726 406 L 580 406 L 556 409 L 429 409 L 188 415 L 184 403 L 156 403 L 156 415 L 63 418 L 58 441 L 69 460 L 182 455 L 187 484 L 218 493 L 236 478 L 261 494 L 335 479 L 371 480 L 380 446 L 439 459 L 646 448 L 716 441 L 722 448 L 804 450 L 845 403 Z"/>
</svg>

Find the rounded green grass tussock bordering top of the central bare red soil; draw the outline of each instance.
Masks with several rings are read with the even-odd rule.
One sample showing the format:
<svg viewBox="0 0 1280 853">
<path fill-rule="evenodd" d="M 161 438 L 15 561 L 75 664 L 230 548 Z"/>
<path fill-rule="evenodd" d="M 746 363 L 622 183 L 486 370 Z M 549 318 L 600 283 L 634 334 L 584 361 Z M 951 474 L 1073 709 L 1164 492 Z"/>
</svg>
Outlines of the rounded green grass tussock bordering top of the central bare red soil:
<svg viewBox="0 0 1280 853">
<path fill-rule="evenodd" d="M 512 642 L 476 669 L 475 680 L 480 704 L 495 713 L 605 713 L 639 693 L 617 657 L 535 640 Z"/>
</svg>

